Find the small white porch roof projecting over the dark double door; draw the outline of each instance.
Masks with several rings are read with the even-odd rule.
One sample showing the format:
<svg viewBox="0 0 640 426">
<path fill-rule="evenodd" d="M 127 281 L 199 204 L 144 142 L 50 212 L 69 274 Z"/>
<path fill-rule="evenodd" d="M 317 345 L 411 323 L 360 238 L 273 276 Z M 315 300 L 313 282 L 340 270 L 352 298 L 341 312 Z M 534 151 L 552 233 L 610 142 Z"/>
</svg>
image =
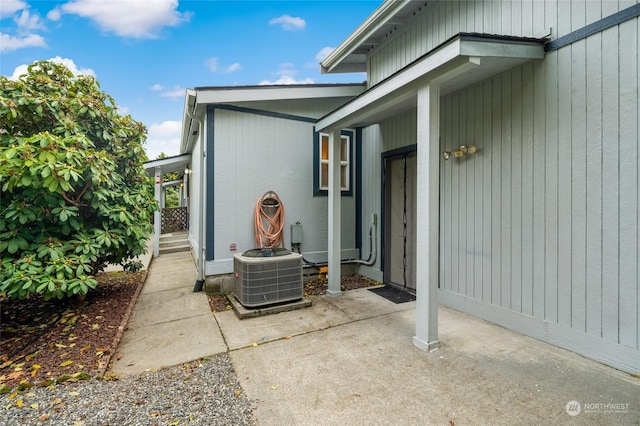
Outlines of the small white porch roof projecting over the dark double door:
<svg viewBox="0 0 640 426">
<path fill-rule="evenodd" d="M 362 127 L 414 108 L 417 88 L 438 82 L 446 94 L 522 63 L 544 58 L 544 40 L 460 33 L 318 120 L 316 128 Z"/>
</svg>

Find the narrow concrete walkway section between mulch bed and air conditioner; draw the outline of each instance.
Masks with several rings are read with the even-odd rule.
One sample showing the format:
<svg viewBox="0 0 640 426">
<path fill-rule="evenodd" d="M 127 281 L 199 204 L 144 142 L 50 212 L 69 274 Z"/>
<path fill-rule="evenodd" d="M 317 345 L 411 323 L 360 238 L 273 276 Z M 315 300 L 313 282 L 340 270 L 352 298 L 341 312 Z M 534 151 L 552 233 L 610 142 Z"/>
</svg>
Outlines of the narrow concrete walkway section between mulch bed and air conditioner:
<svg viewBox="0 0 640 426">
<path fill-rule="evenodd" d="M 227 347 L 204 293 L 194 293 L 197 271 L 189 252 L 153 259 L 122 335 L 111 371 L 126 376 L 225 352 Z"/>
</svg>

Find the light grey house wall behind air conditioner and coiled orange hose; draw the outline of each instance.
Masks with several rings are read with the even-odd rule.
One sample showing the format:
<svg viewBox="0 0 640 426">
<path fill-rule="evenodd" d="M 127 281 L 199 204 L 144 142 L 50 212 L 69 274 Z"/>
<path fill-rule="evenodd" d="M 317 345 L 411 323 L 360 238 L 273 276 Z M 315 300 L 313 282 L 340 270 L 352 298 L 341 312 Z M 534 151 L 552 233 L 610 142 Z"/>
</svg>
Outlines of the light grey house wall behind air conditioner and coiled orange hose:
<svg viewBox="0 0 640 426">
<path fill-rule="evenodd" d="M 303 112 L 311 109 L 320 111 Z M 270 110 L 284 112 L 273 104 Z M 210 114 L 214 167 L 207 184 L 213 185 L 215 209 L 207 214 L 214 235 L 214 246 L 207 247 L 209 255 L 213 251 L 207 275 L 232 272 L 233 254 L 255 247 L 256 202 L 268 191 L 276 192 L 285 207 L 284 247 L 291 249 L 290 226 L 300 222 L 305 258 L 326 261 L 328 207 L 326 196 L 313 196 L 313 123 L 224 109 Z M 343 197 L 342 204 L 343 256 L 357 257 L 355 196 Z"/>
</svg>

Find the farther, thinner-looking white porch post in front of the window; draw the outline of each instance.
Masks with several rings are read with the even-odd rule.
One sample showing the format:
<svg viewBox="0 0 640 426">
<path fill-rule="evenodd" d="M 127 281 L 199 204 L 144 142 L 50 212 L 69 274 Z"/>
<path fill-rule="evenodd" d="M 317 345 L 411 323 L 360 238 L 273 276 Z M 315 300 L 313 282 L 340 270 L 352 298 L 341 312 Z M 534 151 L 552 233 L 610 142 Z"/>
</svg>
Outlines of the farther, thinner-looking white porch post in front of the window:
<svg viewBox="0 0 640 426">
<path fill-rule="evenodd" d="M 340 296 L 340 129 L 329 133 L 329 271 L 327 272 L 327 295 Z"/>
</svg>

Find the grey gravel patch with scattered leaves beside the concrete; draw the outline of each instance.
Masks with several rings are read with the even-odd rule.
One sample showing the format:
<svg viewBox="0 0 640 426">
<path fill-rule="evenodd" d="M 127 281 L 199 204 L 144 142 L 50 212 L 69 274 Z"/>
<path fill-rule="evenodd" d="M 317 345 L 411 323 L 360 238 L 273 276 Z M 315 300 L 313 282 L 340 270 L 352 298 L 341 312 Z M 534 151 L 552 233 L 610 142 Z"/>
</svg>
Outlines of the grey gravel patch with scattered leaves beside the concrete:
<svg viewBox="0 0 640 426">
<path fill-rule="evenodd" d="M 119 380 L 79 381 L 0 396 L 0 424 L 251 425 L 227 354 Z"/>
</svg>

